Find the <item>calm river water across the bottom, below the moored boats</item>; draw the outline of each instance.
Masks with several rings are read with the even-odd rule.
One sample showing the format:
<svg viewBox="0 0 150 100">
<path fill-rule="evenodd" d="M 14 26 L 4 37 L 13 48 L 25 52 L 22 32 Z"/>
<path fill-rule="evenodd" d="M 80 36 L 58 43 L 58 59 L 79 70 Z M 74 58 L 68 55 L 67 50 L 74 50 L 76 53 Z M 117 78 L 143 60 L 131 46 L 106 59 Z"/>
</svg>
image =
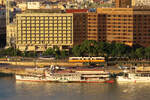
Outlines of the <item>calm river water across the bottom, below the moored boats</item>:
<svg viewBox="0 0 150 100">
<path fill-rule="evenodd" d="M 150 83 L 16 82 L 0 77 L 0 100 L 150 100 Z"/>
</svg>

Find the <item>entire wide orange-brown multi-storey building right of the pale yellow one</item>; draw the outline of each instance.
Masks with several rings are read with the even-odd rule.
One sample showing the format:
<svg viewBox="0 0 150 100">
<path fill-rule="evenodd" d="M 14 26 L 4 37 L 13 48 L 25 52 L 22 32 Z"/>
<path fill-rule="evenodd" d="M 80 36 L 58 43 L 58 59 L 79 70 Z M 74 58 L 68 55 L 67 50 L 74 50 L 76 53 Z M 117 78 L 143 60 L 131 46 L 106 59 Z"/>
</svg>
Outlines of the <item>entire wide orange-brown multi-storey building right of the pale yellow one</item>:
<svg viewBox="0 0 150 100">
<path fill-rule="evenodd" d="M 150 46 L 150 9 L 98 8 L 97 12 L 85 13 L 84 17 L 81 17 L 82 13 L 76 15 L 75 45 L 84 40 L 96 40 Z"/>
</svg>

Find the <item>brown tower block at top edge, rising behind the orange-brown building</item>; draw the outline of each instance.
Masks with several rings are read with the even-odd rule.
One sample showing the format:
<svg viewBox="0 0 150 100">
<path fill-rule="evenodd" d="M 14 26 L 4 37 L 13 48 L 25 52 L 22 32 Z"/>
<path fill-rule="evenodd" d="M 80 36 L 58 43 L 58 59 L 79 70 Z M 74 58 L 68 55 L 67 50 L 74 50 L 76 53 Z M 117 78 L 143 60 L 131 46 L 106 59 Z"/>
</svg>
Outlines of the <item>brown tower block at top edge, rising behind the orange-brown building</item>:
<svg viewBox="0 0 150 100">
<path fill-rule="evenodd" d="M 129 8 L 131 7 L 131 0 L 115 0 L 116 8 Z"/>
</svg>

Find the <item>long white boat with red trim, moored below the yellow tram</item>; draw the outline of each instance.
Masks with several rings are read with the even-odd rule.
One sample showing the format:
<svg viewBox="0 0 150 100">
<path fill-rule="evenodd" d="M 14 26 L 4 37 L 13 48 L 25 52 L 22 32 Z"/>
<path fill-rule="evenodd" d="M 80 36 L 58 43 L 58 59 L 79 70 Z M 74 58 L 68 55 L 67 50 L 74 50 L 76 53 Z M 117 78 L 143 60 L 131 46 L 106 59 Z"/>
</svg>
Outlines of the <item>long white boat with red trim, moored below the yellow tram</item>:
<svg viewBox="0 0 150 100">
<path fill-rule="evenodd" d="M 47 82 L 79 82 L 79 83 L 113 83 L 110 74 L 104 70 L 82 69 L 76 71 L 45 70 L 42 75 L 16 75 L 17 81 L 47 81 Z"/>
</svg>

